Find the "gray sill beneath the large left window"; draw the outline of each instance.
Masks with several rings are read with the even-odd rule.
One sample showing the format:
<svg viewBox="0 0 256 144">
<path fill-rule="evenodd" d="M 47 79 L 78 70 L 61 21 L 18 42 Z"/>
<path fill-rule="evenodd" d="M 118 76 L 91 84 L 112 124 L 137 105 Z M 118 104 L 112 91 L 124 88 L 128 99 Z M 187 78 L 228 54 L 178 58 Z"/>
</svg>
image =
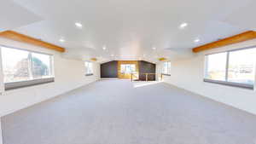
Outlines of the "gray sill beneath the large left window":
<svg viewBox="0 0 256 144">
<path fill-rule="evenodd" d="M 5 90 L 20 89 L 20 88 L 39 85 L 39 84 L 48 84 L 52 82 L 55 82 L 55 78 L 40 78 L 40 79 L 33 79 L 33 80 L 27 80 L 27 81 L 5 83 L 4 88 Z"/>
</svg>

